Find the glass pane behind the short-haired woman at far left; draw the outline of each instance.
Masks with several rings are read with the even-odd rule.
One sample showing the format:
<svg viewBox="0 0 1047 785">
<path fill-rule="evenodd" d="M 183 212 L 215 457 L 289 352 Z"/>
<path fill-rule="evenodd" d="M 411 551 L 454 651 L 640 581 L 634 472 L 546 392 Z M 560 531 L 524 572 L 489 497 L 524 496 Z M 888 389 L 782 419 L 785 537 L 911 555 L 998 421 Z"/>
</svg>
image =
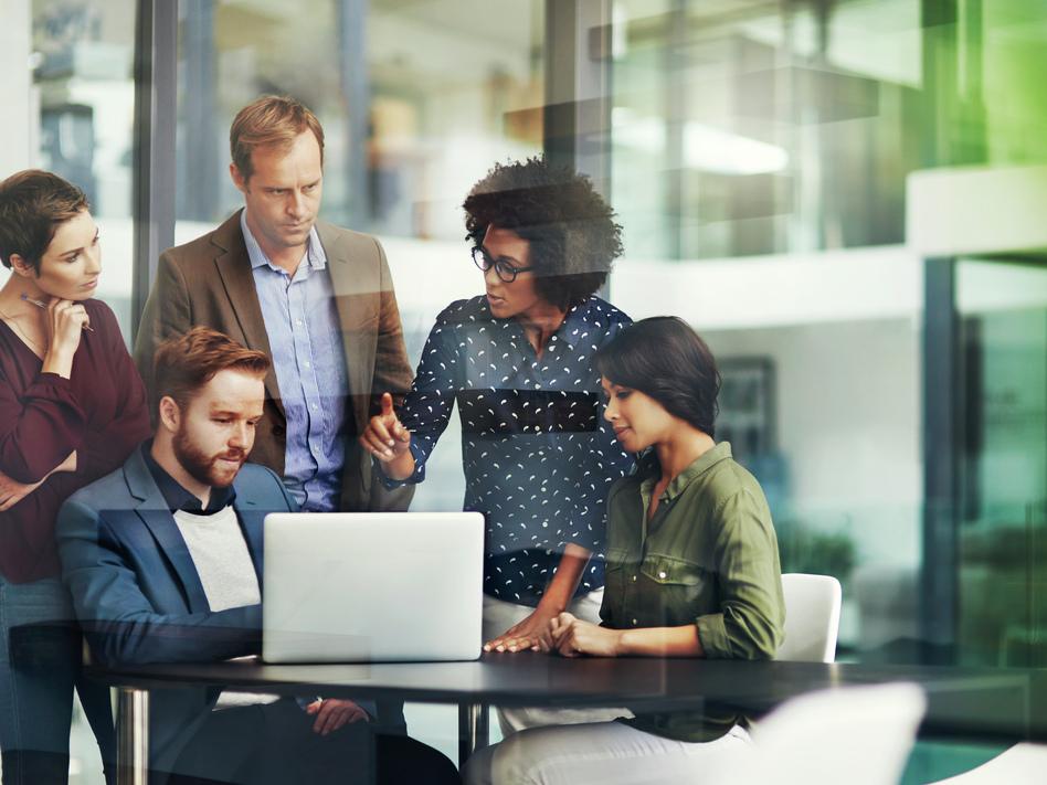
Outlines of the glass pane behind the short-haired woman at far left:
<svg viewBox="0 0 1047 785">
<path fill-rule="evenodd" d="M 0 178 L 35 167 L 84 189 L 102 236 L 97 297 L 128 340 L 136 9 L 135 0 L 11 0 L 0 33 L 7 112 Z M 70 783 L 104 782 L 78 703 L 70 752 Z"/>
</svg>

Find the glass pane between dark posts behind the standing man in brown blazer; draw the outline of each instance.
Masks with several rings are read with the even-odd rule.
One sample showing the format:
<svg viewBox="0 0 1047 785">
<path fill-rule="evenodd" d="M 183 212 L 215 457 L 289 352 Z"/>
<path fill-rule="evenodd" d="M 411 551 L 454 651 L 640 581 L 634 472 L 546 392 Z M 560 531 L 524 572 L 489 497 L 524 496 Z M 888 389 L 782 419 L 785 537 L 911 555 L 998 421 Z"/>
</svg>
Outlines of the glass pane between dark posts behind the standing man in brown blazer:
<svg viewBox="0 0 1047 785">
<path fill-rule="evenodd" d="M 178 242 L 229 216 L 229 127 L 293 95 L 325 130 L 321 216 L 381 237 L 412 364 L 436 315 L 483 288 L 461 204 L 496 162 L 541 152 L 544 3 L 182 3 Z M 461 509 L 457 418 L 415 509 Z"/>
</svg>

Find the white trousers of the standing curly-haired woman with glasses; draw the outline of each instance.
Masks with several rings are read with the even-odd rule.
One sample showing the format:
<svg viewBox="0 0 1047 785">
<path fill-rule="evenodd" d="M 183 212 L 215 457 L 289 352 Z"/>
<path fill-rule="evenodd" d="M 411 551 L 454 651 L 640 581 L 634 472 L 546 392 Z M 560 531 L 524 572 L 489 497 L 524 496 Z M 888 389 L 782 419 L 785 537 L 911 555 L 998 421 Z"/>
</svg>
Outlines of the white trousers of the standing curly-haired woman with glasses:
<svg viewBox="0 0 1047 785">
<path fill-rule="evenodd" d="M 603 602 L 603 590 L 577 597 L 568 606 L 568 612 L 580 619 L 600 624 L 600 605 Z M 484 641 L 497 638 L 509 627 L 527 618 L 535 608 L 529 605 L 507 603 L 484 595 Z M 500 655 L 512 657 L 512 654 Z M 501 735 L 521 731 L 525 728 L 541 725 L 572 725 L 580 722 L 604 722 L 616 717 L 632 717 L 628 709 L 537 709 L 537 708 L 499 708 L 498 724 Z"/>
</svg>

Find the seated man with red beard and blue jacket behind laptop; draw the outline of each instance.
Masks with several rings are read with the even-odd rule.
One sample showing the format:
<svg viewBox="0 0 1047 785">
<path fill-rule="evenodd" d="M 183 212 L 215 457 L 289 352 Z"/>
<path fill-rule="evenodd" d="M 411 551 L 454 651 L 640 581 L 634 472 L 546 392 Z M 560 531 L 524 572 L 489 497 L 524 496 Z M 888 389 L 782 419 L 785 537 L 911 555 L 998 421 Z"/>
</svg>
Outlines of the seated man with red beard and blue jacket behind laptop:
<svg viewBox="0 0 1047 785">
<path fill-rule="evenodd" d="M 98 661 L 261 651 L 263 519 L 297 509 L 279 477 L 245 463 L 268 369 L 264 353 L 210 328 L 162 343 L 155 437 L 62 507 L 63 579 Z M 377 736 L 373 711 L 348 700 L 159 690 L 150 783 L 388 782 L 406 762 L 457 779 L 436 751 Z"/>
</svg>

